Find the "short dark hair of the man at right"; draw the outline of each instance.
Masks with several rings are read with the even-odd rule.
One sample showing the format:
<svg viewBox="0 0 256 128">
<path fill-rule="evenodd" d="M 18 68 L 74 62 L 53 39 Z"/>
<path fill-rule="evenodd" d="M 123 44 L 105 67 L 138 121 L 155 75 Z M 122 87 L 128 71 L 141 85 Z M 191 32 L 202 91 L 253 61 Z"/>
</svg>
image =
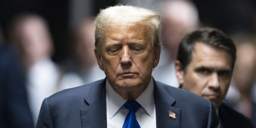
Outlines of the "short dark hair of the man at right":
<svg viewBox="0 0 256 128">
<path fill-rule="evenodd" d="M 192 59 L 196 42 L 225 49 L 231 55 L 233 69 L 236 60 L 236 46 L 233 41 L 221 30 L 205 27 L 187 34 L 179 45 L 177 60 L 181 62 L 184 71 Z"/>
</svg>

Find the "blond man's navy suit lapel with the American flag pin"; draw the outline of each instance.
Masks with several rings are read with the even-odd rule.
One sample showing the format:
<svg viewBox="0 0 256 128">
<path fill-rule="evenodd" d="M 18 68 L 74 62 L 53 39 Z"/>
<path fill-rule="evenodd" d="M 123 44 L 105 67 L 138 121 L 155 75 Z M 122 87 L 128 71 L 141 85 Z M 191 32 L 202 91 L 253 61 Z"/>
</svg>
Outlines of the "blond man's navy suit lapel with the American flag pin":
<svg viewBox="0 0 256 128">
<path fill-rule="evenodd" d="M 166 88 L 154 82 L 155 105 L 156 105 L 156 127 L 177 128 L 181 127 L 181 110 L 173 107 L 175 99 L 168 93 Z M 176 119 L 169 117 L 169 111 L 175 113 Z"/>
</svg>

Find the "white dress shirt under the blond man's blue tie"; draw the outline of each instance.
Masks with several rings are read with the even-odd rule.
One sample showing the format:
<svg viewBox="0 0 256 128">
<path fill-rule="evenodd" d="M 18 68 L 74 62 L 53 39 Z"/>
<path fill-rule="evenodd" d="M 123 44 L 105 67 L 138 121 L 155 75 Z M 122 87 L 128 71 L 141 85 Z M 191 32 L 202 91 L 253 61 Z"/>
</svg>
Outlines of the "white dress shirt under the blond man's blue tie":
<svg viewBox="0 0 256 128">
<path fill-rule="evenodd" d="M 135 99 L 141 107 L 136 111 L 136 119 L 141 128 L 156 128 L 154 84 L 151 81 L 143 93 Z M 108 128 L 122 128 L 129 110 L 123 107 L 127 100 L 118 95 L 106 80 L 106 115 Z"/>
</svg>

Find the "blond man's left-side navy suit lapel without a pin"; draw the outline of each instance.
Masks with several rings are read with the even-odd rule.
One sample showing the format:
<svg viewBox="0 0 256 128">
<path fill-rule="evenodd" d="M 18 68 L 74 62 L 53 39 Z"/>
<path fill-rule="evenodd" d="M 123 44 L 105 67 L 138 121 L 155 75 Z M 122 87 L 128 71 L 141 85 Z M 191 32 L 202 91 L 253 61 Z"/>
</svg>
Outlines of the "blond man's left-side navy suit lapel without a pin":
<svg viewBox="0 0 256 128">
<path fill-rule="evenodd" d="M 90 93 L 84 98 L 85 106 L 80 109 L 83 128 L 106 128 L 106 95 L 105 83 L 91 86 Z"/>
</svg>

